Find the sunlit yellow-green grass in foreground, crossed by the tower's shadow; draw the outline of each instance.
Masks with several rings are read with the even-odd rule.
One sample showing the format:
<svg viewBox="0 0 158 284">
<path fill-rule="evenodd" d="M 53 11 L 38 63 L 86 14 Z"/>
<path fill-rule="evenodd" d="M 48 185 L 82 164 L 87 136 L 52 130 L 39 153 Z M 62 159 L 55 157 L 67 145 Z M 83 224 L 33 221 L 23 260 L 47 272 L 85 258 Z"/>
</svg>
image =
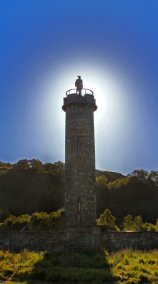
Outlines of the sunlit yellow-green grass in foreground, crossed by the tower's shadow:
<svg viewBox="0 0 158 284">
<path fill-rule="evenodd" d="M 0 251 L 0 280 L 7 284 L 158 283 L 158 251 L 21 253 Z"/>
</svg>

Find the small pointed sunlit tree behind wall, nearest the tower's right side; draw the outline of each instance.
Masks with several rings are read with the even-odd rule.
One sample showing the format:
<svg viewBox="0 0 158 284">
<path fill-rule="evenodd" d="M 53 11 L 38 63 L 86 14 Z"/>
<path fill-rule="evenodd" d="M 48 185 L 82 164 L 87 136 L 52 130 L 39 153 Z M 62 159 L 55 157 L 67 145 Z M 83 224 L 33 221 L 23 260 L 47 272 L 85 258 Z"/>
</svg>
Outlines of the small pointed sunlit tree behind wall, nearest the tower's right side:
<svg viewBox="0 0 158 284">
<path fill-rule="evenodd" d="M 96 221 L 98 225 L 108 226 L 111 230 L 118 230 L 118 227 L 115 224 L 115 217 L 108 209 L 106 209 Z"/>
</svg>

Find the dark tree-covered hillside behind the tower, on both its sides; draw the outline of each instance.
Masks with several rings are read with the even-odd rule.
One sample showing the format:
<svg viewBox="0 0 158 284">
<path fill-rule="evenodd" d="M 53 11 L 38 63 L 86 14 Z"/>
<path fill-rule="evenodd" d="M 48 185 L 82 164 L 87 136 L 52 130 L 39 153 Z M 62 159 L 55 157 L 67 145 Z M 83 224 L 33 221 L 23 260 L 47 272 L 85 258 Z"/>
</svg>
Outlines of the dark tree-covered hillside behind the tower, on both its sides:
<svg viewBox="0 0 158 284">
<path fill-rule="evenodd" d="M 143 222 L 158 218 L 158 172 L 120 173 L 96 170 L 97 215 L 111 210 L 118 226 L 128 214 Z M 0 222 L 9 214 L 55 212 L 64 207 L 64 163 L 40 160 L 0 162 Z"/>
</svg>

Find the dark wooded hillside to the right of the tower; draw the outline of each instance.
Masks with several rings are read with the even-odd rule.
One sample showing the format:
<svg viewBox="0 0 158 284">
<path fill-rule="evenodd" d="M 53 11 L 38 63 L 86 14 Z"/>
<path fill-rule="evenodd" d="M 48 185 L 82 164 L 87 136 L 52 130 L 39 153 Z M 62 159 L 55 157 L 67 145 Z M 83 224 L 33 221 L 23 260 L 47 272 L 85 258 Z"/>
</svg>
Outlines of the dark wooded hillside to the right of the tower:
<svg viewBox="0 0 158 284">
<path fill-rule="evenodd" d="M 144 173 L 144 171 L 143 171 Z M 136 176 L 118 178 L 113 182 L 99 176 L 96 178 L 97 214 L 108 208 L 120 226 L 128 214 L 140 215 L 144 222 L 154 223 L 157 219 L 158 187 L 149 177 L 140 180 Z"/>
</svg>

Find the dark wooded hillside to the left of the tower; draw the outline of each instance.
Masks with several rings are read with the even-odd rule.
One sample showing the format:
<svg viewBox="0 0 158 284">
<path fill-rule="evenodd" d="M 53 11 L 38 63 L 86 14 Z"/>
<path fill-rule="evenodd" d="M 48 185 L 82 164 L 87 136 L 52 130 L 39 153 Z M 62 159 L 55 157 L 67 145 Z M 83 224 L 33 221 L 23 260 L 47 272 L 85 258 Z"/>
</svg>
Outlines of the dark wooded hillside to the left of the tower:
<svg viewBox="0 0 158 284">
<path fill-rule="evenodd" d="M 0 211 L 15 216 L 55 212 L 64 206 L 64 163 L 41 170 L 39 160 L 20 160 L 0 175 Z M 44 168 L 44 165 L 43 165 Z"/>
</svg>

